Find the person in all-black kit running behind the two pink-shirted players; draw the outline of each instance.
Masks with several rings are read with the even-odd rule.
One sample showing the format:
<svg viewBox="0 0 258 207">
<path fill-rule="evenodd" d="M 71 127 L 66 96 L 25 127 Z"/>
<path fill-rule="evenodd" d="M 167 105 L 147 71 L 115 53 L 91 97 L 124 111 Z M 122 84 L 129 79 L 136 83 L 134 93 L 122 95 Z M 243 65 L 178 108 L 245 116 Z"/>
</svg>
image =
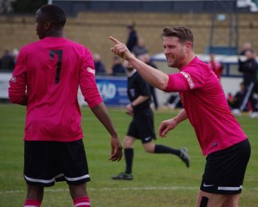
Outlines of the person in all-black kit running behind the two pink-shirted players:
<svg viewBox="0 0 258 207">
<path fill-rule="evenodd" d="M 177 150 L 168 146 L 154 144 L 152 139 L 156 139 L 154 131 L 154 113 L 150 108 L 151 93 L 149 84 L 140 77 L 138 72 L 133 69 L 129 62 L 125 62 L 127 68 L 128 82 L 127 95 L 131 103 L 125 108 L 127 114 L 133 116 L 127 135 L 124 139 L 125 149 L 125 172 L 121 172 L 112 179 L 133 179 L 132 164 L 133 164 L 133 143 L 136 139 L 142 141 L 143 148 L 149 153 L 167 153 L 177 155 L 189 168 L 190 160 L 187 155 L 187 150 L 182 148 Z"/>
</svg>

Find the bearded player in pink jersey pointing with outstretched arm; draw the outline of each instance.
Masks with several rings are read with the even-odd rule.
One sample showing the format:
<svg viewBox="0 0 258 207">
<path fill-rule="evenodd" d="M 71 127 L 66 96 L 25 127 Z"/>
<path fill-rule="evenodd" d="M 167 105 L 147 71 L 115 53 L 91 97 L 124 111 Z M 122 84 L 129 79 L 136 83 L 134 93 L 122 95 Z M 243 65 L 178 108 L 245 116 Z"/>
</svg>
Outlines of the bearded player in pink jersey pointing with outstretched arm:
<svg viewBox="0 0 258 207">
<path fill-rule="evenodd" d="M 166 137 L 181 121 L 189 119 L 207 155 L 196 207 L 237 207 L 250 144 L 232 116 L 225 94 L 212 69 L 194 55 L 194 34 L 189 28 L 164 28 L 163 48 L 167 65 L 179 72 L 165 74 L 131 55 L 124 43 L 111 51 L 126 59 L 152 86 L 166 92 L 179 92 L 184 110 L 160 124 L 159 135 Z M 237 172 L 237 173 L 236 173 Z"/>
</svg>

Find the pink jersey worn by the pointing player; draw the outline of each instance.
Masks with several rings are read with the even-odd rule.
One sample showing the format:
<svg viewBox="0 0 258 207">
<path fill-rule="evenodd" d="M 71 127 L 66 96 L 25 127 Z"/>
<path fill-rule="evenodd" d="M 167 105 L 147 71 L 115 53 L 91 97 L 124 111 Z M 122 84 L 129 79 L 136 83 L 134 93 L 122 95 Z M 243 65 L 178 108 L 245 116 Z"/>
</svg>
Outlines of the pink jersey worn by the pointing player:
<svg viewBox="0 0 258 207">
<path fill-rule="evenodd" d="M 231 114 L 219 79 L 195 57 L 181 72 L 169 75 L 167 92 L 179 92 L 203 151 L 208 155 L 246 139 Z"/>
</svg>

